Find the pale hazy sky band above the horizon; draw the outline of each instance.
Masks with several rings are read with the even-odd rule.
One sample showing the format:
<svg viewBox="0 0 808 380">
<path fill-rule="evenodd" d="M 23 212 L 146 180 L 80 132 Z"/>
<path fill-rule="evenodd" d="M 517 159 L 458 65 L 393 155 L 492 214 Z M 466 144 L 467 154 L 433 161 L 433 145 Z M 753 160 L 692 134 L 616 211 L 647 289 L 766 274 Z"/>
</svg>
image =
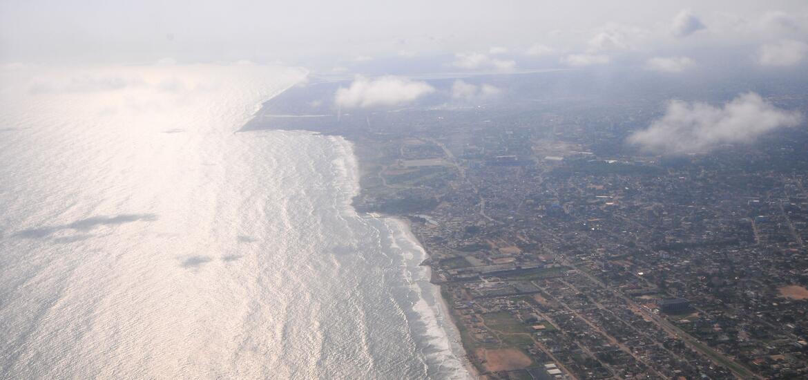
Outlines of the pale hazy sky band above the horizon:
<svg viewBox="0 0 808 380">
<path fill-rule="evenodd" d="M 563 65 L 592 65 L 625 52 L 805 43 L 806 36 L 804 0 L 0 2 L 0 61 L 6 63 L 164 57 L 297 63 L 314 56 L 461 53 L 472 65 L 507 68 L 509 59 L 495 56 L 554 54 Z M 775 65 L 788 61 L 771 49 Z M 652 65 L 678 70 L 688 62 Z"/>
</svg>

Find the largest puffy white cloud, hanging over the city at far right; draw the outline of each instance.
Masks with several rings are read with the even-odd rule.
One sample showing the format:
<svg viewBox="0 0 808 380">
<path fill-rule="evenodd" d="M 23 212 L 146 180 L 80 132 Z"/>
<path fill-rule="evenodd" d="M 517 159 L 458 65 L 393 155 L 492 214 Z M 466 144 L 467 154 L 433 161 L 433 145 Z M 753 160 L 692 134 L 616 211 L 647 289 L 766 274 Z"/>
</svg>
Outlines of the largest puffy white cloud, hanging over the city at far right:
<svg viewBox="0 0 808 380">
<path fill-rule="evenodd" d="M 750 143 L 773 129 L 797 126 L 801 121 L 800 112 L 776 108 L 748 92 L 720 108 L 671 101 L 662 118 L 633 133 L 628 141 L 656 153 L 701 152 L 722 144 Z"/>
</svg>

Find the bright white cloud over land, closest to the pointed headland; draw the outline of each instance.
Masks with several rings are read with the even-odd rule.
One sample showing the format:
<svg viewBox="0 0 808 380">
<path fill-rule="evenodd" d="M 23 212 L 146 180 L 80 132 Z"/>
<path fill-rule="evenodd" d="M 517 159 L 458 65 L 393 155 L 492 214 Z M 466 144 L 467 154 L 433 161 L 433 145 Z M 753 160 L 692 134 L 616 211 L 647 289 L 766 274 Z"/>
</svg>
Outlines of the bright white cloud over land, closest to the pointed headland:
<svg viewBox="0 0 808 380">
<path fill-rule="evenodd" d="M 368 79 L 357 76 L 348 88 L 340 87 L 334 102 L 343 108 L 371 108 L 410 103 L 435 91 L 427 82 L 386 76 Z"/>
</svg>

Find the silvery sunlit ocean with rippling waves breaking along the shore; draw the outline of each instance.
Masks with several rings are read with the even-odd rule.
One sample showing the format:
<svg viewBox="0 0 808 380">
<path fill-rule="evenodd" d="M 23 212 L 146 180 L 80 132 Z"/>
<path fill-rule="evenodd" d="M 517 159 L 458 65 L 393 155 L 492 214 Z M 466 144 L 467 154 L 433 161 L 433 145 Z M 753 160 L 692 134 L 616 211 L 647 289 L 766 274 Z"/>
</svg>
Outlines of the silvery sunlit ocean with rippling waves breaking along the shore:
<svg viewBox="0 0 808 380">
<path fill-rule="evenodd" d="M 469 378 L 351 143 L 237 133 L 305 70 L 0 69 L 0 378 Z"/>
</svg>

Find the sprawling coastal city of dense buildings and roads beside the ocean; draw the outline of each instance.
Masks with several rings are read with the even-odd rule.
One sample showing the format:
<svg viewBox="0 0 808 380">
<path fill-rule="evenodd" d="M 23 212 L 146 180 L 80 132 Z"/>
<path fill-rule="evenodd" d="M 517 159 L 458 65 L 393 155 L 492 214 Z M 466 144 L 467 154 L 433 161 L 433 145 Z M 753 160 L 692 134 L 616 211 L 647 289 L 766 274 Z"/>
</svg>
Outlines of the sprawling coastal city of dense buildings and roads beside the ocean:
<svg viewBox="0 0 808 380">
<path fill-rule="evenodd" d="M 654 155 L 625 138 L 670 87 L 349 111 L 327 102 L 339 86 L 292 88 L 245 129 L 354 142 L 356 209 L 410 222 L 482 377 L 808 378 L 806 131 Z"/>
</svg>

